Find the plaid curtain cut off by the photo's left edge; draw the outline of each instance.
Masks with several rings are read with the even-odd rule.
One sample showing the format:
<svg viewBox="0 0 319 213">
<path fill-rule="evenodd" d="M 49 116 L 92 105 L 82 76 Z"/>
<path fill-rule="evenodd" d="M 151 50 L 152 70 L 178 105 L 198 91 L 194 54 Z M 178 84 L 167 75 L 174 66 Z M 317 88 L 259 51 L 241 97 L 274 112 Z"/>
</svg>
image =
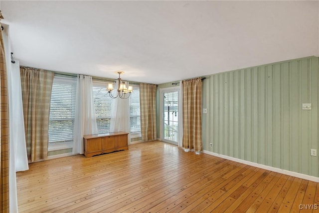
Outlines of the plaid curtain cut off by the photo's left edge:
<svg viewBox="0 0 319 213">
<path fill-rule="evenodd" d="M 0 92 L 1 92 L 1 135 L 0 135 L 0 212 L 9 212 L 9 105 L 5 54 L 0 32 Z"/>
</svg>

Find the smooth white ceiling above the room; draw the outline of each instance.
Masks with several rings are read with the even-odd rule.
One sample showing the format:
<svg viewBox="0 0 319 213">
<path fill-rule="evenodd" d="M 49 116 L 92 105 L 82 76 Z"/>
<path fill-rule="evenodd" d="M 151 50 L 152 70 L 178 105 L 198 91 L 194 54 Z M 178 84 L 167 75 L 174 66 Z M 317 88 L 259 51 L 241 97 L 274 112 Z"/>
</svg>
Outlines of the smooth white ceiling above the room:
<svg viewBox="0 0 319 213">
<path fill-rule="evenodd" d="M 319 55 L 319 1 L 6 1 L 20 65 L 165 83 Z"/>
</svg>

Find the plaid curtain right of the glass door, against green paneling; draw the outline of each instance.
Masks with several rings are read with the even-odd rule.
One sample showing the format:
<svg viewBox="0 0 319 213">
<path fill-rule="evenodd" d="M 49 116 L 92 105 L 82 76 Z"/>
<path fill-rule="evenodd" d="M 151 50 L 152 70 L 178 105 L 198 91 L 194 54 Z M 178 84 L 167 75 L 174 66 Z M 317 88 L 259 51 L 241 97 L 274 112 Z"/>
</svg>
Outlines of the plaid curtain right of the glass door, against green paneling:
<svg viewBox="0 0 319 213">
<path fill-rule="evenodd" d="M 185 149 L 202 151 L 200 78 L 183 80 L 183 145 Z"/>
</svg>

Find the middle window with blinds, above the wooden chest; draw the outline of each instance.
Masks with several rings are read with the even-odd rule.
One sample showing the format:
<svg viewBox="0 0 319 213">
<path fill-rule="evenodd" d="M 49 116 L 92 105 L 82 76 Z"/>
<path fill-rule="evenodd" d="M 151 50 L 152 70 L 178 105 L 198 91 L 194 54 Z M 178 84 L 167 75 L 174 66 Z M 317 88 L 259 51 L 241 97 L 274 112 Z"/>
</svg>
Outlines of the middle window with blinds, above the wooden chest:
<svg viewBox="0 0 319 213">
<path fill-rule="evenodd" d="M 93 82 L 93 97 L 98 133 L 110 132 L 113 98 L 107 91 L 107 82 Z"/>
</svg>

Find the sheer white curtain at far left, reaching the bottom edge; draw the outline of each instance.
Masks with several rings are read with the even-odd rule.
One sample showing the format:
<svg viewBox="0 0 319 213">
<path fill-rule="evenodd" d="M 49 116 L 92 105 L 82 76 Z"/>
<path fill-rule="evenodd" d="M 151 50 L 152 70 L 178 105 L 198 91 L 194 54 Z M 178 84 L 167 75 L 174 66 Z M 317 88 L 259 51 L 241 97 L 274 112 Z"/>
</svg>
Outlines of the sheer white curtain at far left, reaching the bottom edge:
<svg viewBox="0 0 319 213">
<path fill-rule="evenodd" d="M 9 211 L 18 212 L 16 175 L 15 172 L 28 170 L 28 159 L 26 154 L 20 67 L 19 61 L 11 63 L 11 48 L 9 38 L 9 25 L 3 26 L 2 36 L 5 50 L 5 61 L 7 66 L 8 101 L 9 101 Z"/>
</svg>

